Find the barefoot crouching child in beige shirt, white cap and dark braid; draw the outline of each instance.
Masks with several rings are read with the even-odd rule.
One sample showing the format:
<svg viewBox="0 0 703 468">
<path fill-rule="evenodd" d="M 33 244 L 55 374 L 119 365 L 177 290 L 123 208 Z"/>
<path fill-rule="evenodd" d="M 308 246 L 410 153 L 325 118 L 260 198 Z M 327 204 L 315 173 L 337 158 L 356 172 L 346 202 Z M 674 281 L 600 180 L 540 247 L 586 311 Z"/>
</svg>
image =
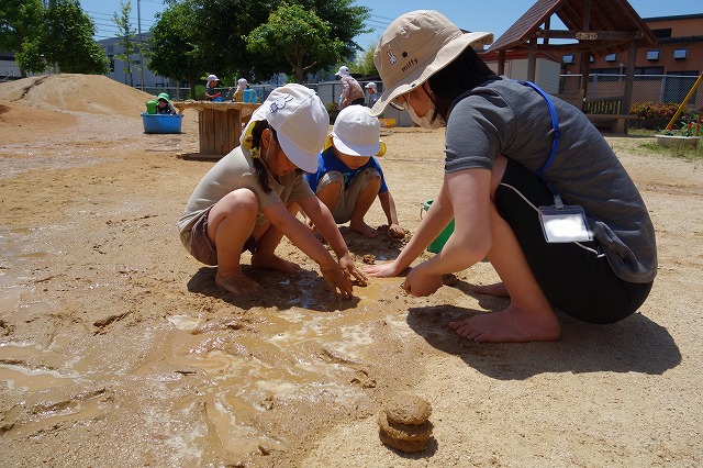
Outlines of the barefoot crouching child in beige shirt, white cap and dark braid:
<svg viewBox="0 0 703 468">
<path fill-rule="evenodd" d="M 316 169 L 328 124 L 314 91 L 302 85 L 277 88 L 252 115 L 241 146 L 198 183 L 178 220 L 180 239 L 196 259 L 217 266 L 220 287 L 233 294 L 260 288 L 242 271 L 244 250 L 252 252 L 254 268 L 300 270 L 275 254 L 283 235 L 320 265 L 335 293 L 352 297 L 353 278 L 365 285 L 330 210 L 300 170 Z M 300 209 L 320 229 L 337 260 L 295 218 Z"/>
</svg>

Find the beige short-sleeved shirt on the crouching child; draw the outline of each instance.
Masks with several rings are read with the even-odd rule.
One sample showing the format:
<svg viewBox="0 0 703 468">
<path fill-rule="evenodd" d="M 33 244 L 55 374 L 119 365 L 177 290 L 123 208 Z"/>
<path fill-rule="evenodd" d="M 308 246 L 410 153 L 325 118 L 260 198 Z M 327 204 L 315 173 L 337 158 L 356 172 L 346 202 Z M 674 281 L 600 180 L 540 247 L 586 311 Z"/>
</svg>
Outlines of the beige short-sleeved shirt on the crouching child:
<svg viewBox="0 0 703 468">
<path fill-rule="evenodd" d="M 301 200 L 315 194 L 299 171 L 282 177 L 274 177 L 269 174 L 271 191 L 265 192 L 259 186 L 254 172 L 254 161 L 248 149 L 241 146 L 232 149 L 220 159 L 202 178 L 190 196 L 183 214 L 178 220 L 180 242 L 190 253 L 190 230 L 202 214 L 224 196 L 233 190 L 249 189 L 259 199 L 259 215 L 256 224 L 266 224 L 268 219 L 261 214 L 265 208 L 276 203 L 287 203 Z"/>
</svg>

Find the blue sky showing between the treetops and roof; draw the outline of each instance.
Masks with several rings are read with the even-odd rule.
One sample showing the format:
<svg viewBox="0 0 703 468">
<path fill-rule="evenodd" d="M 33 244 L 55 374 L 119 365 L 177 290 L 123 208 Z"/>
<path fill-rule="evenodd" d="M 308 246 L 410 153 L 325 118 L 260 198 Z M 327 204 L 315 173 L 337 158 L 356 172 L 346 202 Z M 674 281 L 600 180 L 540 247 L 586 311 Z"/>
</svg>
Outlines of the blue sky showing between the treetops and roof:
<svg viewBox="0 0 703 468">
<path fill-rule="evenodd" d="M 154 15 L 164 10 L 161 0 L 122 0 L 131 1 L 133 26 L 137 29 L 137 11 L 141 16 L 142 32 L 154 25 Z M 331 0 L 334 1 L 334 0 Z M 467 31 L 492 32 L 500 37 L 520 19 L 537 0 L 492 0 L 477 2 L 471 0 L 357 0 L 356 4 L 371 9 L 367 22 L 375 31 L 356 37 L 356 42 L 365 49 L 376 46 L 386 27 L 397 16 L 413 10 L 437 10 L 453 23 Z M 610 1 L 610 0 L 598 0 Z M 96 38 L 114 37 L 118 27 L 112 22 L 113 13 L 120 12 L 121 0 L 80 0 L 80 4 L 96 22 Z M 701 0 L 629 0 L 629 4 L 641 18 L 673 16 L 680 14 L 701 14 Z M 553 27 L 555 24 L 553 23 Z"/>
</svg>

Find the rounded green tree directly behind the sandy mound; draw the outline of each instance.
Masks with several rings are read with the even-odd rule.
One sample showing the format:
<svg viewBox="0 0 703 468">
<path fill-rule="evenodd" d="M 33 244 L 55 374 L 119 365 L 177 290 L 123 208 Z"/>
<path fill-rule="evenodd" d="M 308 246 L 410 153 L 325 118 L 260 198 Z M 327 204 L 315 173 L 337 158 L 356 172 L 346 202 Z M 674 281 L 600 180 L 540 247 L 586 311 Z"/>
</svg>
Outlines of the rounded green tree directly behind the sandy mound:
<svg viewBox="0 0 703 468">
<path fill-rule="evenodd" d="M 104 74 L 110 60 L 92 36 L 96 25 L 78 0 L 54 0 L 44 11 L 43 24 L 15 56 L 26 71 L 42 73 L 56 65 L 67 74 Z"/>
</svg>

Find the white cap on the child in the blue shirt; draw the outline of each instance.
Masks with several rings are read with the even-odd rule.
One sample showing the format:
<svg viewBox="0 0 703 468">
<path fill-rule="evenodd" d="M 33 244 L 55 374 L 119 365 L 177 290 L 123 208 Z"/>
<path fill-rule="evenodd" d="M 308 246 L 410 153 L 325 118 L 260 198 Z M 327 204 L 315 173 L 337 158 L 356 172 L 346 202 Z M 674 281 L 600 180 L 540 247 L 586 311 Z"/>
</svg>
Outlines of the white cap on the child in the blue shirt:
<svg viewBox="0 0 703 468">
<path fill-rule="evenodd" d="M 349 105 L 339 111 L 332 127 L 335 147 L 349 156 L 369 157 L 381 151 L 381 124 L 365 105 Z"/>
</svg>

